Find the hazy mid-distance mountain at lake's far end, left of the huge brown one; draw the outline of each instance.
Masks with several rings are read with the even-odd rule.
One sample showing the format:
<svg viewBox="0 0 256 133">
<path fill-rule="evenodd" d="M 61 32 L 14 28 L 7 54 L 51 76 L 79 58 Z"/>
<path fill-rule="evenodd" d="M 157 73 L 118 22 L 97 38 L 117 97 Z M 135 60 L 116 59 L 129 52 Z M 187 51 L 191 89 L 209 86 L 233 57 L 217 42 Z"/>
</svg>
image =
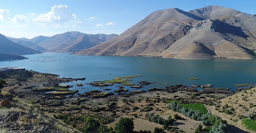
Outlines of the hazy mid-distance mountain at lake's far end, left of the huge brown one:
<svg viewBox="0 0 256 133">
<path fill-rule="evenodd" d="M 87 35 L 85 33 L 72 31 L 54 35 L 36 44 L 47 49 L 49 52 L 73 52 L 91 48 L 112 37 L 115 37 L 115 35 Z"/>
</svg>

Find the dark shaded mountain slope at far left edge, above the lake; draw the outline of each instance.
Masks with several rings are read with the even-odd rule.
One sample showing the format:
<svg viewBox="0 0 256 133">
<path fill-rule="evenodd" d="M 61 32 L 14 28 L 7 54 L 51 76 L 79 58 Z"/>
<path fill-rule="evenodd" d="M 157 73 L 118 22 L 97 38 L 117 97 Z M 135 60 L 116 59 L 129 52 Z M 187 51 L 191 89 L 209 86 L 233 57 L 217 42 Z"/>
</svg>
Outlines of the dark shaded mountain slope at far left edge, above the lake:
<svg viewBox="0 0 256 133">
<path fill-rule="evenodd" d="M 8 54 L 26 55 L 41 53 L 40 51 L 36 51 L 31 48 L 14 43 L 2 34 L 0 34 L 0 48 L 0 53 Z"/>
</svg>

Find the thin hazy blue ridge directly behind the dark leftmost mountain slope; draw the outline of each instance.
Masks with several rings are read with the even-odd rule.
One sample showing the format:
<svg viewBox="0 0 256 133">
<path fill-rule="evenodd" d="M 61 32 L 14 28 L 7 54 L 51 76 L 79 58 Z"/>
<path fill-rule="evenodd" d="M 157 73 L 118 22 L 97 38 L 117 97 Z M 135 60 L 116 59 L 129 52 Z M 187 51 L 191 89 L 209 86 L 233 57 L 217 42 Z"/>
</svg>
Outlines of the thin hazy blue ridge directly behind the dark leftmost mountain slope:
<svg viewBox="0 0 256 133">
<path fill-rule="evenodd" d="M 17 43 L 17 44 L 20 44 L 20 45 L 23 45 L 23 46 L 26 46 L 28 48 L 31 48 L 31 49 L 34 49 L 34 50 L 37 50 L 37 51 L 46 51 L 47 49 L 44 49 L 32 42 L 30 42 L 29 40 L 20 40 L 20 39 L 14 39 L 14 38 L 9 38 L 9 40 Z"/>
</svg>

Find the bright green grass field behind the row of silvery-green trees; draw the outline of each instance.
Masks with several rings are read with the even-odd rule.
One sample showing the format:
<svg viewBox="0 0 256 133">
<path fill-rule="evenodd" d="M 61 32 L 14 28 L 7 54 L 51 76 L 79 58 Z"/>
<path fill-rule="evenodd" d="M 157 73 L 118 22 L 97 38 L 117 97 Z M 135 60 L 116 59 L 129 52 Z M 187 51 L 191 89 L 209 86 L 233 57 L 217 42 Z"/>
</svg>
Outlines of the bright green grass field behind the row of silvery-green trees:
<svg viewBox="0 0 256 133">
<path fill-rule="evenodd" d="M 176 101 L 177 103 L 179 101 L 177 100 L 168 100 L 168 103 L 171 103 L 173 101 Z M 185 107 L 186 109 L 191 108 L 192 110 L 199 110 L 202 114 L 207 114 L 208 110 L 202 103 L 181 103 L 181 106 Z"/>
</svg>

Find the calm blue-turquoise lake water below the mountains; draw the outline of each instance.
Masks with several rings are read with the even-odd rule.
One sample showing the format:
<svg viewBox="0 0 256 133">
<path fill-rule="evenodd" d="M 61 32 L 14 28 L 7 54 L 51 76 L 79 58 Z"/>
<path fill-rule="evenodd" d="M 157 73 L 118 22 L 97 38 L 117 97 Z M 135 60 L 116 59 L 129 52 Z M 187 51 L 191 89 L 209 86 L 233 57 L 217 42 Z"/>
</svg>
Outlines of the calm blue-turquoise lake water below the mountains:
<svg viewBox="0 0 256 133">
<path fill-rule="evenodd" d="M 163 88 L 168 85 L 213 84 L 215 87 L 226 87 L 235 90 L 240 83 L 256 83 L 256 60 L 211 59 L 179 60 L 155 57 L 134 56 L 94 56 L 72 55 L 69 53 L 42 53 L 25 55 L 27 60 L 1 61 L 0 67 L 25 67 L 42 73 L 55 73 L 66 78 L 86 78 L 84 81 L 63 83 L 73 85 L 80 93 L 102 88 L 85 85 L 96 80 L 112 80 L 115 77 L 142 75 L 131 82 L 156 82 L 141 88 Z M 188 80 L 190 77 L 199 80 Z M 76 87 L 77 83 L 84 86 Z M 113 92 L 118 84 L 112 87 Z M 132 90 L 129 86 L 125 88 Z M 200 88 L 198 88 L 200 89 Z"/>
</svg>

